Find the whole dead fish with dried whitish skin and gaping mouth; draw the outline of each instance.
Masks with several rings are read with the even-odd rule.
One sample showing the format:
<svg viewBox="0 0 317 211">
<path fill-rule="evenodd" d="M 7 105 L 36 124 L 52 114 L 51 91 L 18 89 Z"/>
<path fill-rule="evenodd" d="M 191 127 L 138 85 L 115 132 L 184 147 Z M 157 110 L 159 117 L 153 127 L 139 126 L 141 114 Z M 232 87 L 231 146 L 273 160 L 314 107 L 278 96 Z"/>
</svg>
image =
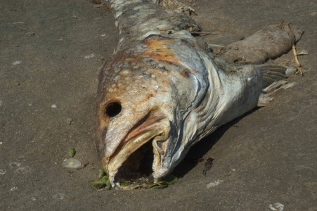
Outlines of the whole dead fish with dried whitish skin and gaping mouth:
<svg viewBox="0 0 317 211">
<path fill-rule="evenodd" d="M 119 44 L 99 75 L 96 146 L 113 187 L 120 177 L 167 176 L 193 144 L 267 103 L 261 90 L 285 78 L 280 66 L 214 58 L 186 15 L 145 0 L 106 3 Z"/>
</svg>

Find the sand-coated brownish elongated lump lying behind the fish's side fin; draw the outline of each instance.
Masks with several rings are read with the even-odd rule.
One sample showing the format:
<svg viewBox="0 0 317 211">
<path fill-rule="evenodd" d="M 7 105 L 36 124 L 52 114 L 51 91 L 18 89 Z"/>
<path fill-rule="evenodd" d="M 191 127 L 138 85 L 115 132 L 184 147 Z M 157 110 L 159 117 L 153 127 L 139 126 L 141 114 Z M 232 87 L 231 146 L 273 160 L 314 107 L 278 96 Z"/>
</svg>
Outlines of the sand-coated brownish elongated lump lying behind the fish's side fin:
<svg viewBox="0 0 317 211">
<path fill-rule="evenodd" d="M 302 31 L 283 22 L 269 25 L 252 36 L 218 49 L 215 55 L 228 63 L 259 64 L 278 58 L 290 51 L 292 44 L 302 37 Z"/>
</svg>

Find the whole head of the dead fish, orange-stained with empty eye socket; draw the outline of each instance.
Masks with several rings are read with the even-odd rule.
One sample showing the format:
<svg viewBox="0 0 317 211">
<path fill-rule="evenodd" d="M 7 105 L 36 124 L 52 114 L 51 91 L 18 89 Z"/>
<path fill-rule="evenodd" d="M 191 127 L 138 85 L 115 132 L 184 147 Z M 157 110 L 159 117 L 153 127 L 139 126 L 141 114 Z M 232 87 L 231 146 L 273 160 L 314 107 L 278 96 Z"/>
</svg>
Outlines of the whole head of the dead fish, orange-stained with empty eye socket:
<svg viewBox="0 0 317 211">
<path fill-rule="evenodd" d="M 182 134 L 190 120 L 184 110 L 197 101 L 188 72 L 131 52 L 116 53 L 99 77 L 96 146 L 112 186 L 127 175 L 162 179 L 186 154 L 195 133 Z"/>
</svg>

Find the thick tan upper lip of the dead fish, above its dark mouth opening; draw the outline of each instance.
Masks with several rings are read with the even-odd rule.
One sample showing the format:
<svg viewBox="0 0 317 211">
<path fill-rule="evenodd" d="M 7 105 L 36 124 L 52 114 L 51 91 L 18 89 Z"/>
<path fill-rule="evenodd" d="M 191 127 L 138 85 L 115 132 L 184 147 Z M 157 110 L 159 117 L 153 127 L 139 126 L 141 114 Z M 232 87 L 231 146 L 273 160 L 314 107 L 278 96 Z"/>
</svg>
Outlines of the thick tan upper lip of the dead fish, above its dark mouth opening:
<svg viewBox="0 0 317 211">
<path fill-rule="evenodd" d="M 155 137 L 161 137 L 162 134 L 166 134 L 166 128 L 164 128 L 164 126 L 162 127 L 164 124 L 160 125 L 164 119 L 167 120 L 167 116 L 162 113 L 148 113 L 141 119 L 142 122 L 139 121 L 137 123 L 137 127 L 133 127 L 127 135 L 124 136 L 119 146 L 115 149 L 115 152 L 108 158 L 103 158 L 103 167 L 105 167 L 106 172 L 108 172 L 112 187 L 119 187 L 119 182 L 115 181 L 115 176 L 119 167 L 122 166 L 124 161 L 126 161 L 134 151 L 137 151 L 138 148 L 148 141 L 154 141 Z M 160 140 L 163 141 L 162 139 Z"/>
</svg>

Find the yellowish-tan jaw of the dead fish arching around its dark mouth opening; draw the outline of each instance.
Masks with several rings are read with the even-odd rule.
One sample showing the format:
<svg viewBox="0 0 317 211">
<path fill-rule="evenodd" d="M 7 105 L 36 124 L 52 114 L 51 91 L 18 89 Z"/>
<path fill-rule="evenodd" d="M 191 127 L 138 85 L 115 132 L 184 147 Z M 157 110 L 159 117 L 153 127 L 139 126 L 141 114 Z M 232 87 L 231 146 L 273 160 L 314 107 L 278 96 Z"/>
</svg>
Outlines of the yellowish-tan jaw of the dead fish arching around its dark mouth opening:
<svg viewBox="0 0 317 211">
<path fill-rule="evenodd" d="M 153 141 L 154 160 L 160 160 L 160 155 L 164 153 L 157 145 L 157 141 L 167 141 L 169 135 L 169 120 L 163 114 L 153 114 L 145 122 L 132 129 L 120 141 L 119 146 L 112 155 L 104 155 L 102 158 L 103 168 L 108 172 L 110 182 L 113 187 L 119 186 L 116 175 L 123 163 L 129 159 L 130 155 L 141 148 L 148 141 Z M 154 166 L 153 166 L 154 167 Z M 153 169 L 154 170 L 154 169 Z"/>
</svg>

